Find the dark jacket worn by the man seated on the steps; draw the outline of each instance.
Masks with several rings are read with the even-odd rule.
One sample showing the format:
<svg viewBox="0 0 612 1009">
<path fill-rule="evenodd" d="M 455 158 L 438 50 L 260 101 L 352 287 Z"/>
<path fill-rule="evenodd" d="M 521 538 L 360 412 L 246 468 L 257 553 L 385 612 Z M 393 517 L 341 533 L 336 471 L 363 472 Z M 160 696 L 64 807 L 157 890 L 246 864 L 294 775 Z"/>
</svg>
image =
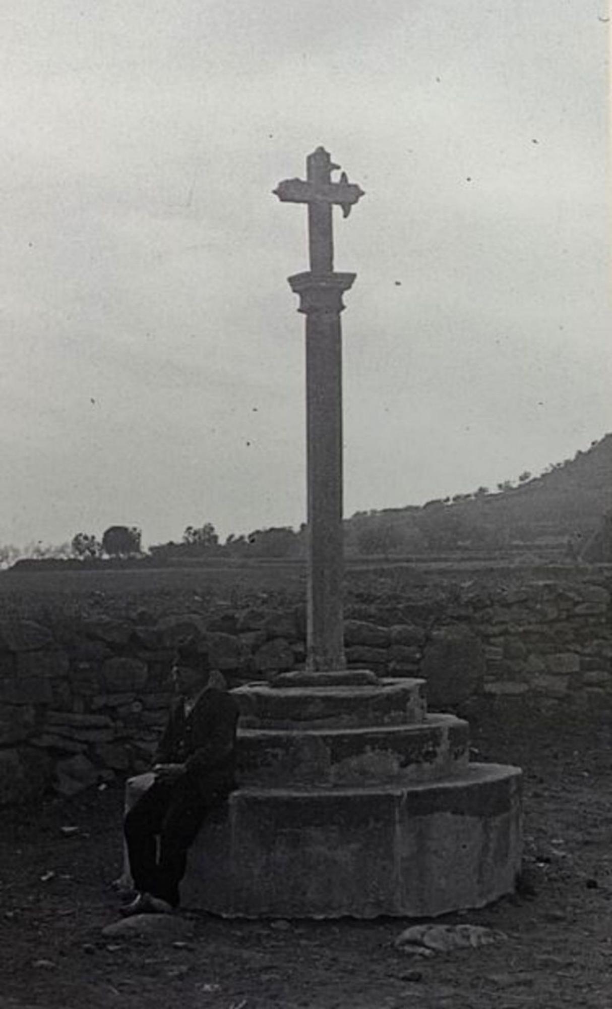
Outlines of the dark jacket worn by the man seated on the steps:
<svg viewBox="0 0 612 1009">
<path fill-rule="evenodd" d="M 204 797 L 236 787 L 236 727 L 239 708 L 231 694 L 206 687 L 189 714 L 182 698 L 170 708 L 156 764 L 185 764 L 183 783 Z"/>
</svg>

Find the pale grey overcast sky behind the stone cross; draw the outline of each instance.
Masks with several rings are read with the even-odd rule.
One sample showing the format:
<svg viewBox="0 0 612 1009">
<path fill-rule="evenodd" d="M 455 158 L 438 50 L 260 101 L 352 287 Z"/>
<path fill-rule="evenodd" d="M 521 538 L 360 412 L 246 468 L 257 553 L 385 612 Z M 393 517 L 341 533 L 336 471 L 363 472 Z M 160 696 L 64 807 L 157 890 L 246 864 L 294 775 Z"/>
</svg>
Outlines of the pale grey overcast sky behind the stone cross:
<svg viewBox="0 0 612 1009">
<path fill-rule="evenodd" d="M 4 0 L 0 543 L 304 519 L 305 211 L 335 219 L 345 512 L 612 430 L 605 0 Z"/>
</svg>

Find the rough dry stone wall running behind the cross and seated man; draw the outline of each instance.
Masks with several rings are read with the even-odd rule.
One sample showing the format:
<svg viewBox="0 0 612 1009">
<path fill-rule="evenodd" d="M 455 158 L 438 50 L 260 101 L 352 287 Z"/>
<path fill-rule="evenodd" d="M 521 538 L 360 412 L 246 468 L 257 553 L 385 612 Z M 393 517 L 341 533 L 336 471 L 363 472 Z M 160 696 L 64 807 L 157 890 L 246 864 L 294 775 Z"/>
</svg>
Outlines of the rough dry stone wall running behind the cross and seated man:
<svg viewBox="0 0 612 1009">
<path fill-rule="evenodd" d="M 612 577 L 364 591 L 347 607 L 350 667 L 423 676 L 431 710 L 474 698 L 601 706 L 612 699 Z M 303 666 L 301 605 L 117 619 L 0 620 L 0 804 L 72 795 L 145 770 L 176 645 L 195 639 L 236 686 Z"/>
</svg>

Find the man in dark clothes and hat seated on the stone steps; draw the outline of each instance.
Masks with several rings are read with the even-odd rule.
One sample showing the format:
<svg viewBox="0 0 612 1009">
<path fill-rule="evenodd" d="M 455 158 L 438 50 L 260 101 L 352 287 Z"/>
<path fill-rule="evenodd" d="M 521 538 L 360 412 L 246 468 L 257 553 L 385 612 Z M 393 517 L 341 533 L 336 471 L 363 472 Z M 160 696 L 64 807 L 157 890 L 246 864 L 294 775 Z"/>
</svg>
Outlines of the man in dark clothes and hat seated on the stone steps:
<svg viewBox="0 0 612 1009">
<path fill-rule="evenodd" d="M 172 681 L 177 696 L 155 754 L 153 784 L 124 821 L 138 891 L 124 914 L 169 912 L 178 906 L 188 850 L 208 810 L 225 802 L 236 787 L 239 710 L 223 676 L 209 676 L 206 656 L 190 644 L 178 649 Z"/>
</svg>

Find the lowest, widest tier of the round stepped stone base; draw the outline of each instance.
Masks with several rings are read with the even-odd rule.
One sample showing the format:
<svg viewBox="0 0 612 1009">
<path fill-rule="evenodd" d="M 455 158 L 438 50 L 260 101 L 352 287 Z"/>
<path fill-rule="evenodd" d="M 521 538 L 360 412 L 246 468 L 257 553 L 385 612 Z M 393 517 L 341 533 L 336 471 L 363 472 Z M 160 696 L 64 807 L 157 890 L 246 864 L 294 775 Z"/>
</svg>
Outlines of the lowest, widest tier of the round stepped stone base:
<svg viewBox="0 0 612 1009">
<path fill-rule="evenodd" d="M 520 771 L 439 782 L 241 789 L 190 853 L 186 907 L 226 917 L 433 917 L 514 889 Z"/>
</svg>

